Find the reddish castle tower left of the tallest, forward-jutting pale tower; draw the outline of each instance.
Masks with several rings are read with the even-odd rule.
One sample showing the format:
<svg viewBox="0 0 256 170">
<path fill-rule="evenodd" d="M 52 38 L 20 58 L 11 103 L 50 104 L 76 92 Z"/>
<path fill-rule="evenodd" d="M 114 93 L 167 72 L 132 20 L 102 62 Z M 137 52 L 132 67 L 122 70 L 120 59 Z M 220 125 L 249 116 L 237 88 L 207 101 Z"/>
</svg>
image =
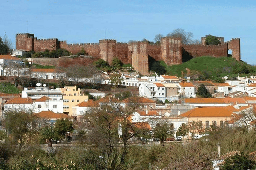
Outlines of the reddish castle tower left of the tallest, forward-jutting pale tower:
<svg viewBox="0 0 256 170">
<path fill-rule="evenodd" d="M 99 40 L 100 58 L 109 64 L 116 56 L 116 40 Z"/>
</svg>

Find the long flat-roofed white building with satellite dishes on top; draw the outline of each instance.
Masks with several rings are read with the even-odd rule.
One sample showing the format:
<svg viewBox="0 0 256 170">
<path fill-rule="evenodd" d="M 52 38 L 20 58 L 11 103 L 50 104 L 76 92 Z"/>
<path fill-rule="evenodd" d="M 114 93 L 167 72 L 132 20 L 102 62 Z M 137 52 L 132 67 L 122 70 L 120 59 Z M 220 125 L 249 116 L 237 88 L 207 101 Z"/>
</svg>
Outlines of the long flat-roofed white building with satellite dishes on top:
<svg viewBox="0 0 256 170">
<path fill-rule="evenodd" d="M 33 100 L 40 99 L 43 96 L 46 96 L 53 100 L 62 100 L 62 93 L 60 88 L 49 89 L 48 87 L 46 87 L 46 85 L 44 87 L 36 87 L 36 88 L 29 88 L 29 89 L 25 87 L 21 93 L 22 98 L 30 97 Z"/>
</svg>

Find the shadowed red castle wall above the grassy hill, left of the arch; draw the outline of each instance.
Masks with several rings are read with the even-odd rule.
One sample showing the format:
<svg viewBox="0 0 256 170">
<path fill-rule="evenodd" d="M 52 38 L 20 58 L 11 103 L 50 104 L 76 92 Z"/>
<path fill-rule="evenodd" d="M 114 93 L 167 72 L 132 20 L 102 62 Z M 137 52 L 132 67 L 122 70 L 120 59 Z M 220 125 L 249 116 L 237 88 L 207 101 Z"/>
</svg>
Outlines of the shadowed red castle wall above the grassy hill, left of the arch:
<svg viewBox="0 0 256 170">
<path fill-rule="evenodd" d="M 218 45 L 183 44 L 182 47 L 193 57 L 214 56 L 227 57 L 228 44 L 225 42 Z"/>
</svg>

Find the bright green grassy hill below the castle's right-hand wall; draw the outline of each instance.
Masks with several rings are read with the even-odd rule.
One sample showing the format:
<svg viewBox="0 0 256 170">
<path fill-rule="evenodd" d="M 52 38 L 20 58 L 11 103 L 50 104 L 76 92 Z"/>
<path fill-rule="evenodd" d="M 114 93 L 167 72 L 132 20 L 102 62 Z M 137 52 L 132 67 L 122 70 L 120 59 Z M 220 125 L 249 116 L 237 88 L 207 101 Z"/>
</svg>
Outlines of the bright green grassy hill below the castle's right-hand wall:
<svg viewBox="0 0 256 170">
<path fill-rule="evenodd" d="M 165 66 L 167 75 L 190 76 L 191 79 L 216 79 L 216 77 L 228 76 L 229 78 L 240 76 L 249 76 L 255 74 L 255 66 L 249 65 L 243 61 L 236 61 L 232 57 L 197 57 L 181 64 L 167 66 L 164 61 L 161 65 Z"/>
</svg>

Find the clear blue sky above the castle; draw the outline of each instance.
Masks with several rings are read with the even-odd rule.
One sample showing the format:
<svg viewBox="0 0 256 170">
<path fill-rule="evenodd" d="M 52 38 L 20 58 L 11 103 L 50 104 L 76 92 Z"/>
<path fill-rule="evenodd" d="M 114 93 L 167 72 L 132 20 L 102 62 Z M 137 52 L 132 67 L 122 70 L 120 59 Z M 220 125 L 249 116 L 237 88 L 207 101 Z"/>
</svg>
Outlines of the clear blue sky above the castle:
<svg viewBox="0 0 256 170">
<path fill-rule="evenodd" d="M 256 65 L 256 1 L 241 0 L 7 0 L 1 2 L 0 36 L 15 48 L 16 33 L 68 43 L 154 41 L 182 28 L 193 39 L 211 34 L 241 39 L 241 59 Z"/>
</svg>

